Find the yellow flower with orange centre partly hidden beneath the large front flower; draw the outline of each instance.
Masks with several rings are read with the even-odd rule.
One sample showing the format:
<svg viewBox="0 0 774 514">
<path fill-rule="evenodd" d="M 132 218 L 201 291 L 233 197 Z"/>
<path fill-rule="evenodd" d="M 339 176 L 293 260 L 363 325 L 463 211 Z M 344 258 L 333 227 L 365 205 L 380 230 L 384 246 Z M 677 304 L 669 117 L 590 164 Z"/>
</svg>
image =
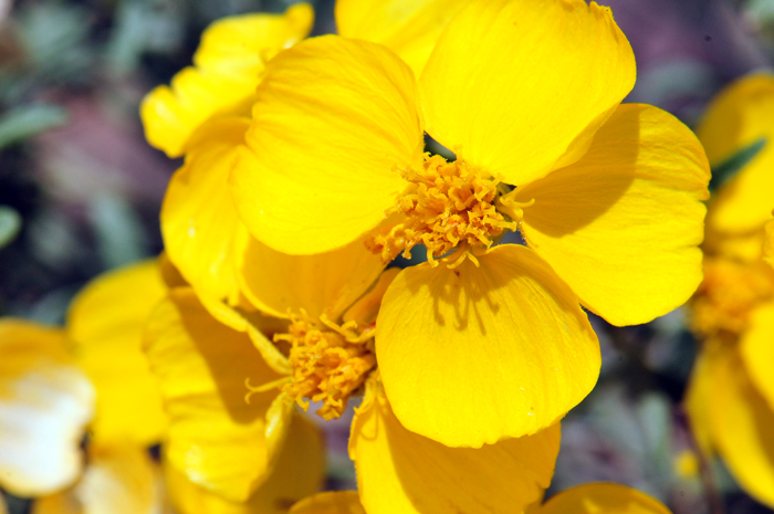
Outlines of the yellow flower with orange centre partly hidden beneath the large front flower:
<svg viewBox="0 0 774 514">
<path fill-rule="evenodd" d="M 352 281 L 347 271 L 365 254 L 357 245 L 311 256 L 253 250 L 257 259 L 263 252 L 273 261 L 251 268 L 252 284 L 263 290 L 249 294 L 290 319 L 217 302 L 206 308 L 189 287 L 174 289 L 151 318 L 147 353 L 171 415 L 166 454 L 177 472 L 232 503 L 244 502 L 278 469 L 278 441 L 292 437 L 293 399 L 320 401 L 318 412 L 330 418 L 365 385 L 349 454 L 369 513 L 506 512 L 538 497 L 553 474 L 558 424 L 468 449 L 414 433 L 395 417 L 369 365 L 374 319 L 395 271 L 373 285 Z M 306 482 L 296 476 L 295 483 L 300 494 Z"/>
</svg>

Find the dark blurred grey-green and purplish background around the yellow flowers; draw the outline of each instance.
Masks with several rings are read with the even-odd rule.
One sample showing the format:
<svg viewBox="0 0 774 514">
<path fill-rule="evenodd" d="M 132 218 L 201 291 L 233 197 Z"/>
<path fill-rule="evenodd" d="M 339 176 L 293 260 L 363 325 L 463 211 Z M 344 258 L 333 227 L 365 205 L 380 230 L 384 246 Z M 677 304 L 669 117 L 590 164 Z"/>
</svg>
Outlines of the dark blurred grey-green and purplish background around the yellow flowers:
<svg viewBox="0 0 774 514">
<path fill-rule="evenodd" d="M 332 0 L 310 0 L 315 33 Z M 179 161 L 143 137 L 143 95 L 188 65 L 224 15 L 291 0 L 0 0 L 0 315 L 59 324 L 98 273 L 161 251 L 158 213 Z M 603 0 L 629 38 L 628 102 L 694 126 L 724 84 L 774 62 L 774 0 Z M 697 343 L 681 312 L 641 327 L 595 318 L 603 374 L 567 417 L 552 490 L 627 483 L 676 514 L 771 513 L 700 462 L 680 407 Z M 348 420 L 326 426 L 332 487 L 352 487 Z"/>
</svg>

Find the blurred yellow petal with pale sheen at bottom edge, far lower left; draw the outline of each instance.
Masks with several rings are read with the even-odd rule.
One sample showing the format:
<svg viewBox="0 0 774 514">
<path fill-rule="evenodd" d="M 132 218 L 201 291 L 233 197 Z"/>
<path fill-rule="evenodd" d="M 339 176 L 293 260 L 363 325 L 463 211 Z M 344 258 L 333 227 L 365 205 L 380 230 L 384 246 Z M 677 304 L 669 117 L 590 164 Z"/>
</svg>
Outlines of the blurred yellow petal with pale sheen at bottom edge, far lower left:
<svg viewBox="0 0 774 514">
<path fill-rule="evenodd" d="M 35 500 L 32 514 L 155 514 L 163 505 L 160 470 L 134 444 L 90 448 L 81 481 Z"/>
</svg>

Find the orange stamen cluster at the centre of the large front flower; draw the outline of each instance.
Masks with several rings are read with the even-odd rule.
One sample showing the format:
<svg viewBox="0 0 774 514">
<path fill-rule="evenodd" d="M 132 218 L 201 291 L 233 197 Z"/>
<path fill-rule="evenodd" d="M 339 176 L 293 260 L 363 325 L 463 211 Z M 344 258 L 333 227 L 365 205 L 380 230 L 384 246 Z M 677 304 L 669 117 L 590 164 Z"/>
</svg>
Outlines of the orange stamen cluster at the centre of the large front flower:
<svg viewBox="0 0 774 514">
<path fill-rule="evenodd" d="M 401 253 L 410 259 L 411 249 L 425 244 L 432 263 L 458 246 L 489 248 L 503 232 L 517 228 L 517 221 L 496 208 L 498 198 L 508 191 L 504 185 L 463 160 L 449 162 L 426 154 L 420 170 L 409 168 L 401 176 L 409 186 L 395 212 L 402 213 L 404 220 L 366 241 L 384 262 Z"/>
</svg>

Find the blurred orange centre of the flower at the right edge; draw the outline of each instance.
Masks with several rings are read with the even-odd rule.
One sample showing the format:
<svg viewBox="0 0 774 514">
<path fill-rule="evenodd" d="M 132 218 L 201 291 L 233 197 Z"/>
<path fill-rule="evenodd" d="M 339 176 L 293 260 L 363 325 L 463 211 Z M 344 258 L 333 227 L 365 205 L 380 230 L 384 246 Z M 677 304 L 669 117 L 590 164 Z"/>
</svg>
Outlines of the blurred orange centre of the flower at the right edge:
<svg viewBox="0 0 774 514">
<path fill-rule="evenodd" d="M 692 329 L 702 337 L 736 336 L 752 311 L 774 298 L 774 273 L 765 264 L 704 260 L 704 281 L 691 302 Z"/>
</svg>

